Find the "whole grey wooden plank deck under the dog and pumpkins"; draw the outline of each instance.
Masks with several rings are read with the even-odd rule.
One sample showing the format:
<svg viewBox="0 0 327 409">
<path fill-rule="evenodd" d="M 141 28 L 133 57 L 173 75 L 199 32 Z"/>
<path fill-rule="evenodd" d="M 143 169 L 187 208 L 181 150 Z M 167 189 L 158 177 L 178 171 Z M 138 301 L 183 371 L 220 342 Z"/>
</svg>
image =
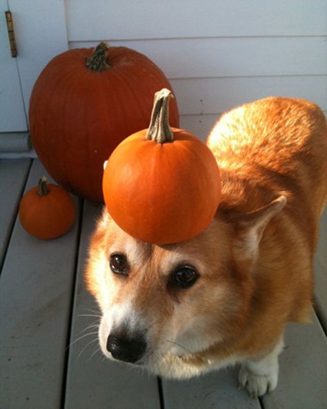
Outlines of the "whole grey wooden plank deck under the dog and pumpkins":
<svg viewBox="0 0 327 409">
<path fill-rule="evenodd" d="M 235 369 L 166 381 L 103 359 L 97 305 L 83 283 L 100 209 L 76 200 L 68 234 L 29 236 L 17 207 L 43 174 L 37 160 L 0 160 L 0 409 L 327 408 L 327 212 L 315 259 L 319 319 L 288 325 L 277 389 L 250 399 Z"/>
</svg>

